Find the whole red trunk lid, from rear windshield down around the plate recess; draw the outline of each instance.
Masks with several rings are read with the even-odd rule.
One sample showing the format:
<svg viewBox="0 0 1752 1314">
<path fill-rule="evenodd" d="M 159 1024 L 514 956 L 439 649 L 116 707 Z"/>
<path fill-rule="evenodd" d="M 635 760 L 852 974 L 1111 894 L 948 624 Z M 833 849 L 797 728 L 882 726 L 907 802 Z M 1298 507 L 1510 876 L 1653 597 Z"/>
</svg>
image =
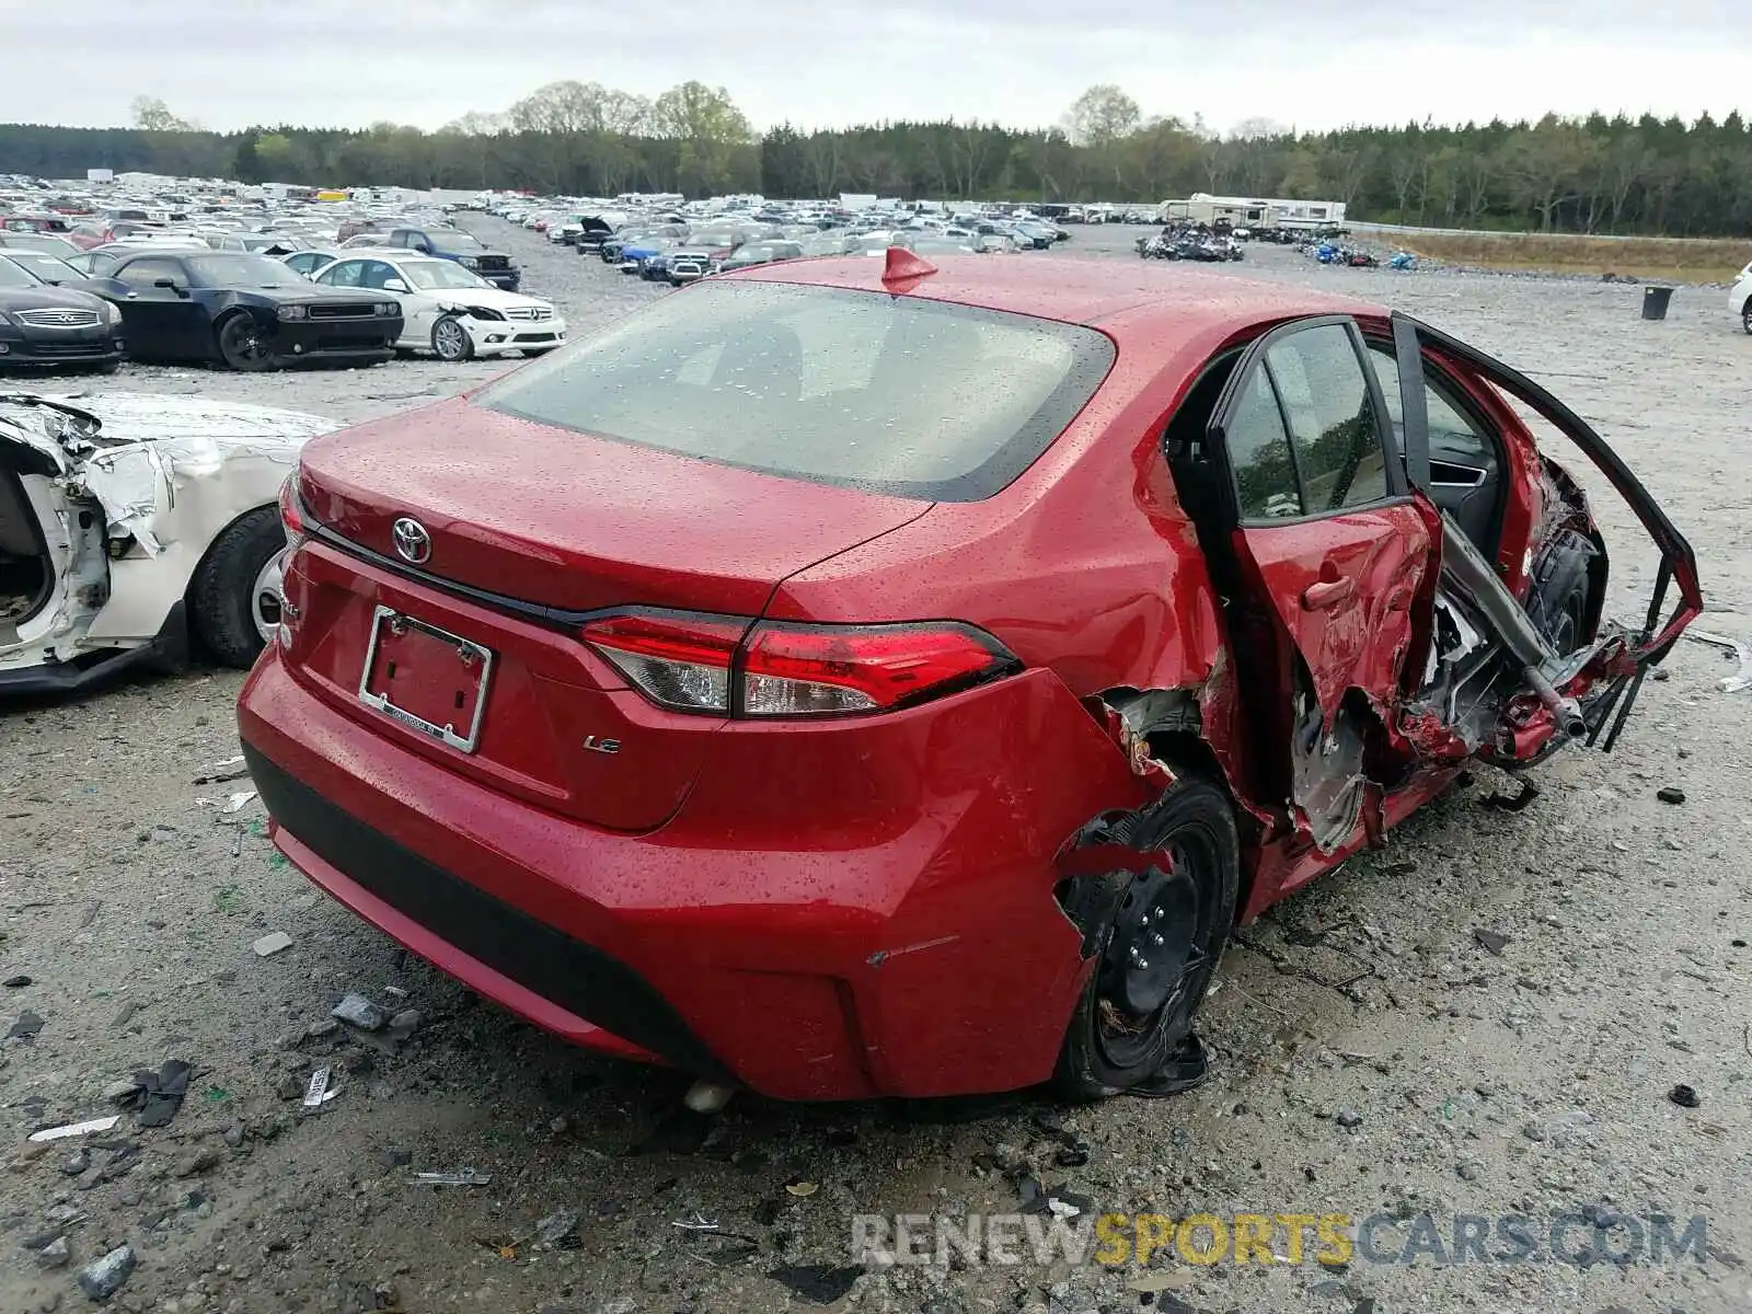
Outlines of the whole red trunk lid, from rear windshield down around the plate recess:
<svg viewBox="0 0 1752 1314">
<path fill-rule="evenodd" d="M 293 559 L 286 587 L 300 618 L 291 666 L 410 752 L 618 830 L 668 820 L 722 720 L 652 706 L 552 611 L 662 606 L 755 617 L 785 576 L 930 510 L 464 401 L 312 442 L 298 494 L 315 524 L 384 561 L 321 540 Z M 401 517 L 429 536 L 431 555 L 419 566 L 399 564 L 392 526 Z M 412 571 L 550 613 L 526 618 Z M 405 618 L 392 638 L 380 632 L 391 624 L 380 618 L 385 608 Z M 429 629 L 478 645 L 491 664 L 447 648 Z M 385 694 L 440 729 L 445 710 L 459 708 L 454 736 L 368 703 Z M 478 739 L 463 750 L 456 741 L 473 738 L 477 703 Z"/>
</svg>

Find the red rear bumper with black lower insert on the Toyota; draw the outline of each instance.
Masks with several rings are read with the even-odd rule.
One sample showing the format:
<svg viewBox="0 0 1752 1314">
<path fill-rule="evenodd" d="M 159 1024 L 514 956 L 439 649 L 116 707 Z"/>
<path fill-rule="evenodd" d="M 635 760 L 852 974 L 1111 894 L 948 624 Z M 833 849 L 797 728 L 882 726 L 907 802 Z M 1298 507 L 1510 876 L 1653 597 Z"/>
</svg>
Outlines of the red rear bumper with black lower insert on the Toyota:
<svg viewBox="0 0 1752 1314">
<path fill-rule="evenodd" d="M 373 718 L 273 648 L 238 701 L 275 843 L 315 885 L 550 1032 L 774 1099 L 1042 1081 L 1086 974 L 1056 851 L 1135 804 L 1121 753 L 1044 671 L 872 722 L 855 780 L 832 734 L 781 752 L 771 727 L 717 732 L 648 834 L 489 790 Z"/>
</svg>

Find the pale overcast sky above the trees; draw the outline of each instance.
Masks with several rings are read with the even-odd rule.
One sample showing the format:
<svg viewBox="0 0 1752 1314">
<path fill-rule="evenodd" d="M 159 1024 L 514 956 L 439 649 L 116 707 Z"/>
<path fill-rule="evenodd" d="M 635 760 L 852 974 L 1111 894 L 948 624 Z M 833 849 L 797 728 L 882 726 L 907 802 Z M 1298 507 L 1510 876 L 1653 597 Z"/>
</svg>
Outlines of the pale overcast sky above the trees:
<svg viewBox="0 0 1752 1314">
<path fill-rule="evenodd" d="M 1743 0 L 0 0 L 0 121 L 436 128 L 578 79 L 724 84 L 757 128 L 1055 123 L 1093 82 L 1226 130 L 1752 116 Z M 37 58 L 21 58 L 33 54 Z"/>
</svg>

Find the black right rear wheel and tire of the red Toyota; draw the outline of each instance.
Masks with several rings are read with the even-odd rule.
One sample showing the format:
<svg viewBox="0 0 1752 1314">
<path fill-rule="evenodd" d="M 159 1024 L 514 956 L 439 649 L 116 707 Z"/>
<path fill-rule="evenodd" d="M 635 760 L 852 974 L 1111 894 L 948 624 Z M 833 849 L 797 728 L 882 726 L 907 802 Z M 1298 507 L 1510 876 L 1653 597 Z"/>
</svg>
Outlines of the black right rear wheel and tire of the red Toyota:
<svg viewBox="0 0 1752 1314">
<path fill-rule="evenodd" d="M 1097 927 L 1095 971 L 1053 1072 L 1074 1100 L 1118 1095 L 1163 1067 L 1191 1035 L 1235 925 L 1240 837 L 1228 795 L 1183 778 L 1137 822 L 1130 843 L 1169 850 L 1174 869 L 1132 876 Z M 1153 967 L 1151 951 L 1162 955 Z"/>
</svg>

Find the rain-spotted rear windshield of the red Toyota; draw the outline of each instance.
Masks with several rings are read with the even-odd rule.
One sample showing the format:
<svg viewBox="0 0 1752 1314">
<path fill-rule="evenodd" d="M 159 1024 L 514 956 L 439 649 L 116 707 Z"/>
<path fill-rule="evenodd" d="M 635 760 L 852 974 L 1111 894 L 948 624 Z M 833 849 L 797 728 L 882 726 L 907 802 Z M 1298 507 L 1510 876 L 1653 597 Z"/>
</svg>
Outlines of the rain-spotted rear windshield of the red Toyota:
<svg viewBox="0 0 1752 1314">
<path fill-rule="evenodd" d="M 704 282 L 484 389 L 477 405 L 745 470 L 978 501 L 1100 387 L 1113 343 L 908 296 Z"/>
</svg>

